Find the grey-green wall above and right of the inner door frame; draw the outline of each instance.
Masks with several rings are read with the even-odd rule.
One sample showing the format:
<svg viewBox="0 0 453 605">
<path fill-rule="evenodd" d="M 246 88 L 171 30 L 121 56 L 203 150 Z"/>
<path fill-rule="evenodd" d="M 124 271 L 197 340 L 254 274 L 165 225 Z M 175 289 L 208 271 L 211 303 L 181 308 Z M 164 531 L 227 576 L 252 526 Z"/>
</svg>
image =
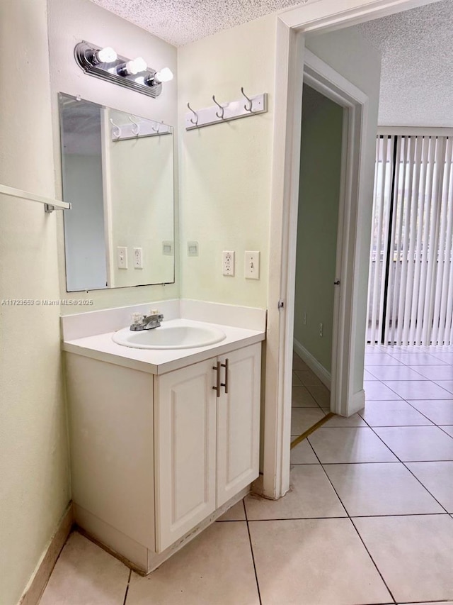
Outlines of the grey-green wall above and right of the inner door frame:
<svg viewBox="0 0 453 605">
<path fill-rule="evenodd" d="M 363 389 L 369 245 L 381 60 L 379 52 L 363 40 L 355 28 L 345 28 L 321 35 L 307 35 L 306 48 L 309 48 L 321 60 L 331 65 L 334 70 L 352 84 L 355 84 L 369 97 L 367 126 L 363 136 L 363 153 L 365 154 L 364 186 L 360 192 L 355 250 L 357 260 L 355 270 L 359 276 L 356 298 L 358 304 L 351 310 L 355 329 L 352 392 L 357 393 Z"/>
</svg>

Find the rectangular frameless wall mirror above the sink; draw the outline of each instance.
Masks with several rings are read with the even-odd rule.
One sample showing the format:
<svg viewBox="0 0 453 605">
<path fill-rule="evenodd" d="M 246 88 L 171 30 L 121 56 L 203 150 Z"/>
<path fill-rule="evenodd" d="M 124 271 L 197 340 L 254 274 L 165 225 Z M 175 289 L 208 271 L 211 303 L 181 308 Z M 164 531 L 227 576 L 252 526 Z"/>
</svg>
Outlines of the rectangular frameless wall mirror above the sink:
<svg viewBox="0 0 453 605">
<path fill-rule="evenodd" d="M 67 292 L 174 282 L 173 128 L 59 94 Z"/>
</svg>

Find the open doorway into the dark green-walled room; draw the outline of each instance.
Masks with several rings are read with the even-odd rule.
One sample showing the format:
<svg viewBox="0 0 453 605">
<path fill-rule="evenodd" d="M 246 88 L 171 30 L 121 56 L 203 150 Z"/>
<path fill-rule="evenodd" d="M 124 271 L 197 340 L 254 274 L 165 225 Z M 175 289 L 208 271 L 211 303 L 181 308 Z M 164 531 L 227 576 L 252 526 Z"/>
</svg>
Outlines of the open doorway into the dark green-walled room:
<svg viewBox="0 0 453 605">
<path fill-rule="evenodd" d="M 294 294 L 291 440 L 331 412 L 343 107 L 304 83 Z"/>
</svg>

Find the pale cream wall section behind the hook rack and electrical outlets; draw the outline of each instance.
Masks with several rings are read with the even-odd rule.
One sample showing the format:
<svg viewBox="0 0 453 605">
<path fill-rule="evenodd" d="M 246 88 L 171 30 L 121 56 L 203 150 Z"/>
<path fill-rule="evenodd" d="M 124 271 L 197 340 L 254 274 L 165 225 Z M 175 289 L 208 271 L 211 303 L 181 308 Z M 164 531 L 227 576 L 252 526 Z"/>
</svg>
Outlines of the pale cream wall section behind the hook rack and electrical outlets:
<svg viewBox="0 0 453 605">
<path fill-rule="evenodd" d="M 181 295 L 267 306 L 270 172 L 273 145 L 275 16 L 224 30 L 178 50 Z M 185 131 L 195 110 L 268 92 L 269 112 Z M 199 243 L 188 257 L 187 242 Z M 236 274 L 222 275 L 222 250 L 236 252 Z M 260 250 L 261 277 L 244 279 L 245 250 Z"/>
</svg>

